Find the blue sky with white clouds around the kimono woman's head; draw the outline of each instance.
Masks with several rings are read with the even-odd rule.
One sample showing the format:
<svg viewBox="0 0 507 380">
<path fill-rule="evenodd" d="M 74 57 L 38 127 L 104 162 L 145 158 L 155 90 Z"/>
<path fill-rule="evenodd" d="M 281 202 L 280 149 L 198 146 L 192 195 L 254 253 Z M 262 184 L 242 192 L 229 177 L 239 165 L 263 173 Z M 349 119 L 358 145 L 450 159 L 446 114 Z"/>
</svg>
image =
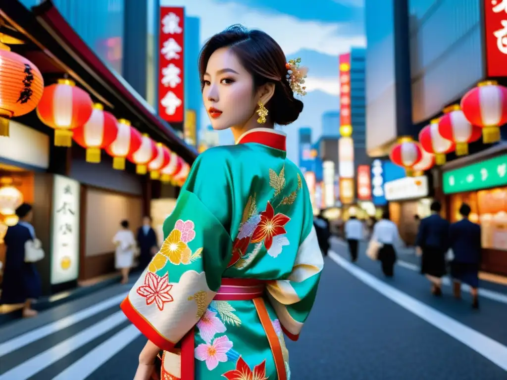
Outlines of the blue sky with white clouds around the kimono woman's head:
<svg viewBox="0 0 507 380">
<path fill-rule="evenodd" d="M 184 6 L 188 16 L 199 17 L 201 43 L 241 23 L 270 34 L 287 59 L 301 57 L 309 67 L 304 110 L 295 123 L 283 127 L 287 156 L 296 162 L 298 129 L 310 126 L 315 140 L 322 113 L 339 109 L 338 55 L 366 46 L 364 0 L 161 0 L 161 5 Z M 201 126 L 208 125 L 206 112 L 201 114 Z M 230 131 L 221 132 L 221 142 L 232 143 Z"/>
</svg>

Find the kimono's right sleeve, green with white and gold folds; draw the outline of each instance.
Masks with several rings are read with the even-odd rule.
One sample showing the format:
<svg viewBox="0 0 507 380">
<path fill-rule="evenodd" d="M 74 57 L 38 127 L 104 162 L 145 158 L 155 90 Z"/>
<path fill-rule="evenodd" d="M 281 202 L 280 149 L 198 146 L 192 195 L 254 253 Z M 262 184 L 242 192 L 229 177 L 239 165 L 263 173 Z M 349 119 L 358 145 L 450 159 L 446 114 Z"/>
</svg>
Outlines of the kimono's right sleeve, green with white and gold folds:
<svg viewBox="0 0 507 380">
<path fill-rule="evenodd" d="M 302 243 L 299 246 L 294 267 L 286 280 L 268 284 L 268 297 L 283 332 L 292 340 L 298 340 L 299 333 L 315 301 L 324 260 L 317 241 L 312 221 L 312 208 L 306 185 L 305 220 Z"/>
</svg>

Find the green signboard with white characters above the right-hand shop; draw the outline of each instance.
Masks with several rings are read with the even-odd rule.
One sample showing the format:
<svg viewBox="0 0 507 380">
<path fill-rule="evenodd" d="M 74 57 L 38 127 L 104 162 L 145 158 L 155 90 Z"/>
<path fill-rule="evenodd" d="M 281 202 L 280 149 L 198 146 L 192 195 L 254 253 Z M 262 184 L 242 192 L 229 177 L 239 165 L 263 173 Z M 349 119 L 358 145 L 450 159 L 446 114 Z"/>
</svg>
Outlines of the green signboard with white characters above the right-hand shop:
<svg viewBox="0 0 507 380">
<path fill-rule="evenodd" d="M 507 155 L 444 173 L 444 194 L 507 185 Z"/>
</svg>

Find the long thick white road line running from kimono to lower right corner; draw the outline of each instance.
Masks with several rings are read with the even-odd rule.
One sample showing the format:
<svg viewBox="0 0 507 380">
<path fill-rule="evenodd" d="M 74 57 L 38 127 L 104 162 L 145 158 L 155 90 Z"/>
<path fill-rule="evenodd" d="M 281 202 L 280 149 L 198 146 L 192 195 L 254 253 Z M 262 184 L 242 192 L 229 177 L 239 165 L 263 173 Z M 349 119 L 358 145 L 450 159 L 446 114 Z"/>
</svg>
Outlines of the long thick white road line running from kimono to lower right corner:
<svg viewBox="0 0 507 380">
<path fill-rule="evenodd" d="M 438 310 L 425 305 L 425 303 L 403 293 L 393 286 L 380 281 L 365 270 L 351 264 L 336 252 L 330 251 L 329 256 L 352 276 L 372 287 L 393 302 L 396 302 L 398 305 L 415 314 L 419 318 L 424 319 L 426 322 L 444 331 L 456 340 L 459 340 L 470 349 L 476 351 L 503 370 L 507 371 L 507 347 L 501 345 L 496 340 L 493 340 L 490 337 L 448 317 Z"/>
</svg>

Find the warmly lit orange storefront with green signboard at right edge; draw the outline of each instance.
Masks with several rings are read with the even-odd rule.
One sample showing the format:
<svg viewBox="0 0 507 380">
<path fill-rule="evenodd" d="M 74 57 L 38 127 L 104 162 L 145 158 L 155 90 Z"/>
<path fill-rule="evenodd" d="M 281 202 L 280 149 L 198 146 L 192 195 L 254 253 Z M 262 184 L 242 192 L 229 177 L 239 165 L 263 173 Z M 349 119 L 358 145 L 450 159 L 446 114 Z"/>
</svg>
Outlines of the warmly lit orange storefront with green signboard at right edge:
<svg viewBox="0 0 507 380">
<path fill-rule="evenodd" d="M 507 143 L 444 166 L 443 190 L 451 222 L 467 203 L 481 225 L 482 269 L 507 275 Z"/>
</svg>

